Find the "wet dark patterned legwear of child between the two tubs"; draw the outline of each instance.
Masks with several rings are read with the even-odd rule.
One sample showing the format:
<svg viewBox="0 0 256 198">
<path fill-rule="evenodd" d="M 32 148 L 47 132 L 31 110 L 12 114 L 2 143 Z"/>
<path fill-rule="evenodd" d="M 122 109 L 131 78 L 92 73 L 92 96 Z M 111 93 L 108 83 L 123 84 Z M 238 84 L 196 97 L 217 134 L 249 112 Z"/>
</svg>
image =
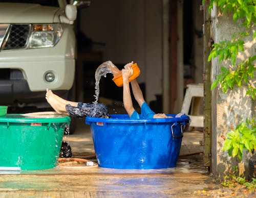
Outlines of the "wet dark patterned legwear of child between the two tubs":
<svg viewBox="0 0 256 198">
<path fill-rule="evenodd" d="M 78 103 L 77 107 L 66 105 L 66 110 L 71 117 L 101 117 L 110 118 L 110 114 L 106 106 L 102 103 Z"/>
</svg>

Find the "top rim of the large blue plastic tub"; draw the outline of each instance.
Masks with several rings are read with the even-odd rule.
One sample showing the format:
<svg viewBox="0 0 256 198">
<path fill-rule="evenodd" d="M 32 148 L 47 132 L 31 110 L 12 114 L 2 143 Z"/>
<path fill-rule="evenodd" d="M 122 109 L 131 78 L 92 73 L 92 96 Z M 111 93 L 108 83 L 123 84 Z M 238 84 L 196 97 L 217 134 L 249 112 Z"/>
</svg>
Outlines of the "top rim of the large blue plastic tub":
<svg viewBox="0 0 256 198">
<path fill-rule="evenodd" d="M 151 122 L 189 122 L 189 116 L 182 115 L 181 117 L 175 117 L 176 114 L 166 114 L 172 116 L 170 118 L 150 118 L 150 119 L 130 119 L 128 114 L 111 114 L 111 118 L 98 118 L 98 117 L 86 117 L 86 124 L 90 125 L 91 122 L 106 122 L 106 123 L 151 123 Z M 123 118 L 121 118 L 123 117 Z"/>
</svg>

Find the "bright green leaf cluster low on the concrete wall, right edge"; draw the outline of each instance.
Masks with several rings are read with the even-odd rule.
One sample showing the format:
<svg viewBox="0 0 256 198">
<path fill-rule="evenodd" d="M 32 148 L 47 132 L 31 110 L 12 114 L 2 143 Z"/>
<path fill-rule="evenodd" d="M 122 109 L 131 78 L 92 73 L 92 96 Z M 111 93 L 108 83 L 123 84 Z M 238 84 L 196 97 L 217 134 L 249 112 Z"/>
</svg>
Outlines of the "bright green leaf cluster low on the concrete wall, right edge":
<svg viewBox="0 0 256 198">
<path fill-rule="evenodd" d="M 242 121 L 235 130 L 227 133 L 224 141 L 223 151 L 228 151 L 232 157 L 238 156 L 242 160 L 243 150 L 252 152 L 256 149 L 256 121 L 246 119 Z"/>
</svg>

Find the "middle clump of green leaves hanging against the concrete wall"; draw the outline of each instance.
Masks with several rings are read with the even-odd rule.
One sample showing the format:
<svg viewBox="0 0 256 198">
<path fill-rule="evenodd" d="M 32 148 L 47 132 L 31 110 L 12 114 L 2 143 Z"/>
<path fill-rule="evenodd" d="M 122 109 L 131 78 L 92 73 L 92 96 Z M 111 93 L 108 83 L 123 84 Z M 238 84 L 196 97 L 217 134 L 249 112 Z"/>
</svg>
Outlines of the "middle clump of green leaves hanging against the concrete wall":
<svg viewBox="0 0 256 198">
<path fill-rule="evenodd" d="M 244 36 L 248 36 L 247 32 L 232 35 L 232 40 L 224 40 L 212 45 L 212 50 L 209 54 L 208 61 L 213 58 L 219 57 L 219 63 L 230 59 L 231 65 L 235 65 L 238 52 L 244 52 L 244 41 L 241 39 Z M 247 60 L 237 64 L 237 69 L 231 66 L 230 69 L 221 67 L 222 73 L 217 76 L 217 79 L 211 84 L 211 90 L 217 87 L 220 83 L 222 91 L 225 93 L 228 89 L 233 89 L 234 85 L 242 86 L 242 83 L 246 83 L 249 90 L 246 92 L 253 100 L 255 99 L 256 89 L 249 84 L 249 81 L 254 77 L 254 71 L 256 67 L 254 61 L 256 56 L 251 56 Z"/>
</svg>

